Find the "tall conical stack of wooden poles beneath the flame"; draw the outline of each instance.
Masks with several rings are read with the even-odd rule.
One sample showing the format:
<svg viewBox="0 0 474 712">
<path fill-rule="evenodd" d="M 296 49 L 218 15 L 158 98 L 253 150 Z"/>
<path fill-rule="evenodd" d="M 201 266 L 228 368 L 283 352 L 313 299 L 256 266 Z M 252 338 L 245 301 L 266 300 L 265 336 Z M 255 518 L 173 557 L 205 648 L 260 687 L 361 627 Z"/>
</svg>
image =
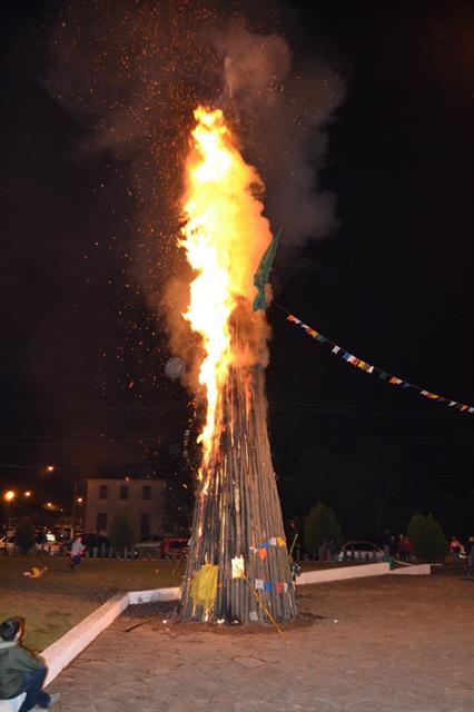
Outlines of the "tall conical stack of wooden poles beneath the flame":
<svg viewBox="0 0 474 712">
<path fill-rule="evenodd" d="M 181 594 L 181 617 L 288 622 L 297 615 L 295 584 L 271 465 L 264 369 L 231 367 L 220 394 L 220 426 L 203 472 Z M 233 560 L 243 558 L 244 576 Z M 218 566 L 214 606 L 191 596 L 194 576 Z"/>
</svg>

